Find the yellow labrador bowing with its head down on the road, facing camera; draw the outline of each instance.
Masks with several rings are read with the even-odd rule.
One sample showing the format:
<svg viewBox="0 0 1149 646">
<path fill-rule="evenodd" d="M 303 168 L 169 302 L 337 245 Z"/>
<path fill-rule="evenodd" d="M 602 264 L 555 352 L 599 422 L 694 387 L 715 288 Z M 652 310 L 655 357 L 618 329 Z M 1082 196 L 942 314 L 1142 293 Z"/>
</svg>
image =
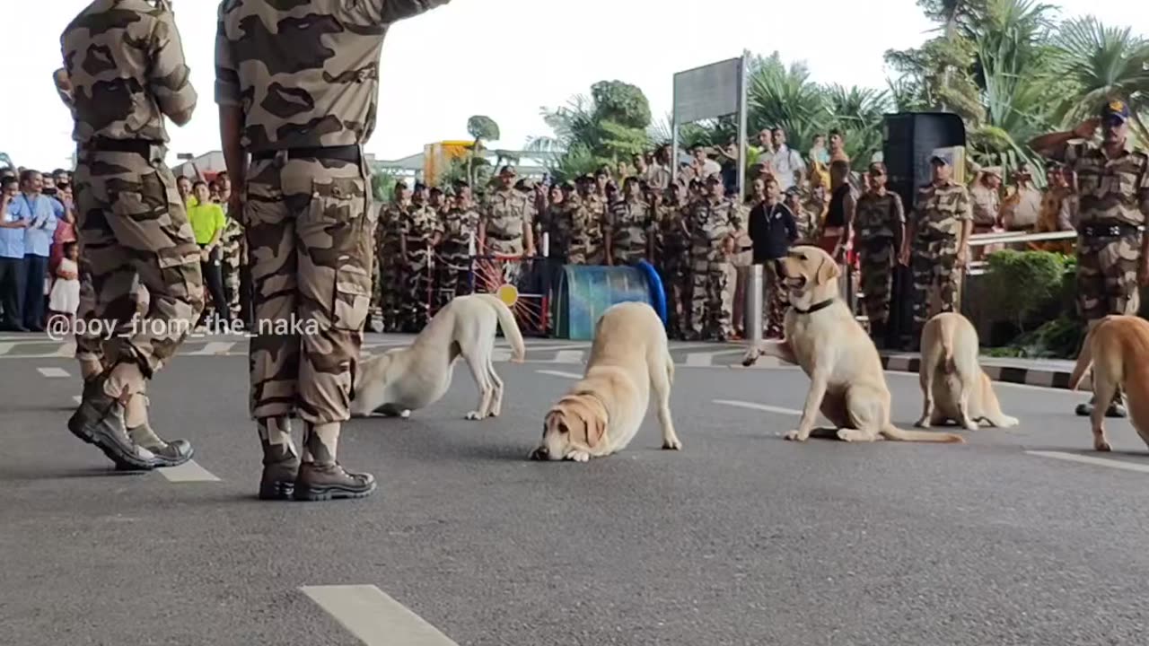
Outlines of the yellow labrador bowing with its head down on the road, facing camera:
<svg viewBox="0 0 1149 646">
<path fill-rule="evenodd" d="M 670 416 L 673 380 L 666 330 L 654 308 L 641 302 L 611 306 L 595 325 L 583 379 L 547 413 L 542 444 L 531 459 L 586 462 L 626 448 L 642 425 L 651 390 L 662 447 L 683 448 Z"/>
</svg>

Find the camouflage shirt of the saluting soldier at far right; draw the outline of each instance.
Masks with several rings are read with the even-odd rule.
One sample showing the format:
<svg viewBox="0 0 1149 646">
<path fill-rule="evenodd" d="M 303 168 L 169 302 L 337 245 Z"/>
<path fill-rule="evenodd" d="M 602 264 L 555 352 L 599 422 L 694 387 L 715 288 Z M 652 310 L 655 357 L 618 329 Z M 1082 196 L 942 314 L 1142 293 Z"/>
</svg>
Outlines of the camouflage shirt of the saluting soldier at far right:
<svg viewBox="0 0 1149 646">
<path fill-rule="evenodd" d="M 1140 226 L 1149 216 L 1149 155 L 1127 141 L 1124 153 L 1108 159 L 1092 143 L 1067 146 L 1064 160 L 1078 176 L 1078 222 Z"/>
</svg>

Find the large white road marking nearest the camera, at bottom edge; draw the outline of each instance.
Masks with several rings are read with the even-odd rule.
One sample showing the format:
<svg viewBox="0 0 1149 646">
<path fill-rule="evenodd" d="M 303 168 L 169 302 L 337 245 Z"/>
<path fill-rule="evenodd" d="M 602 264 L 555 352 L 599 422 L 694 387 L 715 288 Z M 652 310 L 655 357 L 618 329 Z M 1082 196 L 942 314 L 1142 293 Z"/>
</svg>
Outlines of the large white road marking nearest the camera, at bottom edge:
<svg viewBox="0 0 1149 646">
<path fill-rule="evenodd" d="M 373 585 L 300 587 L 365 646 L 458 646 Z"/>
</svg>

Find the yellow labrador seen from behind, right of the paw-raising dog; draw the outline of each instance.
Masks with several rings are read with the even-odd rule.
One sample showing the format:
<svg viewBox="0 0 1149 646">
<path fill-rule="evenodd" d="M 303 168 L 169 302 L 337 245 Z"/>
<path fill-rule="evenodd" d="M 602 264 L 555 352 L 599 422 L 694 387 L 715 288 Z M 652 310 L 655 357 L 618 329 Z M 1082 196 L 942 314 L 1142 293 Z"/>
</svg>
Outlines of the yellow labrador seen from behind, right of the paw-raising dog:
<svg viewBox="0 0 1149 646">
<path fill-rule="evenodd" d="M 921 418 L 928 429 L 947 421 L 976 431 L 980 423 L 1009 429 L 1017 417 L 1002 413 L 994 383 L 978 363 L 978 331 L 956 312 L 939 314 L 921 329 Z"/>
</svg>

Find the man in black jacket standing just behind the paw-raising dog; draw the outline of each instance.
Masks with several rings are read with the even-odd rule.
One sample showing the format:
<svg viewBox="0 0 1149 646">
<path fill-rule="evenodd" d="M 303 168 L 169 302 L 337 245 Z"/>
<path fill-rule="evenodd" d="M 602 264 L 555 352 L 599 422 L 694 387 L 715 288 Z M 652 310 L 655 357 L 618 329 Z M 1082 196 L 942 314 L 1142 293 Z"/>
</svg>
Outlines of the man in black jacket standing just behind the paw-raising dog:
<svg viewBox="0 0 1149 646">
<path fill-rule="evenodd" d="M 781 338 L 787 298 L 774 261 L 784 257 L 797 239 L 797 222 L 779 199 L 778 182 L 773 177 L 755 179 L 754 197 L 757 203 L 750 210 L 748 233 L 754 243 L 754 263 L 765 266 L 766 338 Z"/>
</svg>

